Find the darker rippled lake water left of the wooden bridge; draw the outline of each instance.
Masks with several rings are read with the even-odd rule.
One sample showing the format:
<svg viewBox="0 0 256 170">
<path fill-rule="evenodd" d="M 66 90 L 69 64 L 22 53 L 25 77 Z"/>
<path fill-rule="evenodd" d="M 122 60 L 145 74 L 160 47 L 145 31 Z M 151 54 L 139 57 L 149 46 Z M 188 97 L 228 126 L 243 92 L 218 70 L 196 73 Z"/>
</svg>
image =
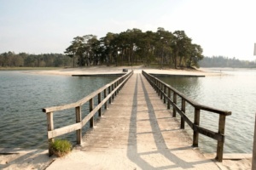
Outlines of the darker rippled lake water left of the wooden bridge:
<svg viewBox="0 0 256 170">
<path fill-rule="evenodd" d="M 75 102 L 115 78 L 117 77 L 65 77 L 33 75 L 29 71 L 0 71 L 0 148 L 46 148 L 47 125 L 42 108 Z M 82 108 L 83 116 L 87 108 L 88 105 Z M 73 124 L 75 111 L 55 112 L 54 121 L 55 127 Z M 61 138 L 73 141 L 74 133 Z"/>
</svg>

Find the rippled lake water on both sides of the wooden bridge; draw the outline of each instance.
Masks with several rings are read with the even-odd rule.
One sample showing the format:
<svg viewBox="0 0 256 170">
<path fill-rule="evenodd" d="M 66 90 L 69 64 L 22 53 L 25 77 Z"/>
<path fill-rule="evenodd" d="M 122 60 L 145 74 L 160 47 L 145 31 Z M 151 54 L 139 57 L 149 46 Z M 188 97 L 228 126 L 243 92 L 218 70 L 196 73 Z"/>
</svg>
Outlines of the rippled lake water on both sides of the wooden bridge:
<svg viewBox="0 0 256 170">
<path fill-rule="evenodd" d="M 200 104 L 232 111 L 226 117 L 226 153 L 251 153 L 256 113 L 256 71 L 217 69 L 218 77 L 161 78 Z M 211 71 L 211 70 L 208 70 Z M 44 107 L 75 102 L 116 77 L 66 77 L 0 71 L 0 148 L 47 148 Z M 96 103 L 96 102 L 95 102 Z M 193 117 L 194 111 L 186 114 Z M 83 116 L 88 106 L 82 108 Z M 75 112 L 55 112 L 55 128 L 75 122 Z M 192 118 L 192 120 L 194 120 Z M 201 111 L 201 126 L 217 131 L 218 115 Z M 87 128 L 86 126 L 84 129 Z M 85 130 L 83 129 L 83 132 Z M 186 127 L 189 133 L 189 127 Z M 74 133 L 61 136 L 74 143 Z M 215 152 L 217 141 L 200 135 L 200 149 Z"/>
</svg>

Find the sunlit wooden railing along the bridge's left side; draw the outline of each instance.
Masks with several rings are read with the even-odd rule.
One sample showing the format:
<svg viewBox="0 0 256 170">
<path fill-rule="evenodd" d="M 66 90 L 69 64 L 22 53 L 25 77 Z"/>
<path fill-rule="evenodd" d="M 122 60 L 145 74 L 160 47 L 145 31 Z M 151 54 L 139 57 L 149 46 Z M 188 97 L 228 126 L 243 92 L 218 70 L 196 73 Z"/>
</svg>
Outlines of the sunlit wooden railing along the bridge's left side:
<svg viewBox="0 0 256 170">
<path fill-rule="evenodd" d="M 44 108 L 43 112 L 46 113 L 48 124 L 49 156 L 53 154 L 52 150 L 50 150 L 50 143 L 54 141 L 55 137 L 61 136 L 62 134 L 76 131 L 77 144 L 81 144 L 82 127 L 84 127 L 84 125 L 89 121 L 90 127 L 94 126 L 93 116 L 96 114 L 96 112 L 98 112 L 99 116 L 102 116 L 102 106 L 104 105 L 104 108 L 107 109 L 108 103 L 111 104 L 111 101 L 112 99 L 114 99 L 114 96 L 116 96 L 119 93 L 119 90 L 125 85 L 125 82 L 128 81 L 132 74 L 133 71 L 126 73 L 124 76 L 117 78 L 113 82 L 108 83 L 102 88 L 99 88 L 95 92 L 84 97 L 84 99 L 80 99 L 75 103 Z M 96 97 L 98 99 L 98 105 L 94 107 L 94 98 Z M 82 120 L 81 108 L 82 105 L 84 105 L 87 102 L 90 103 L 90 113 L 88 113 L 88 115 L 85 116 Z M 72 108 L 75 110 L 76 123 L 55 129 L 53 120 L 54 111 L 63 111 Z"/>
</svg>

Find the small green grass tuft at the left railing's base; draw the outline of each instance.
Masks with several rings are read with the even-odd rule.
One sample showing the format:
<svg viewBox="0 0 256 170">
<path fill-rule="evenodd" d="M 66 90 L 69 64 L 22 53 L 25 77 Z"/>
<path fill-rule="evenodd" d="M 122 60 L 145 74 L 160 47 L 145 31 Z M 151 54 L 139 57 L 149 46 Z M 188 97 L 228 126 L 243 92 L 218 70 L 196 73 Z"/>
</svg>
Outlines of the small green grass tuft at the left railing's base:
<svg viewBox="0 0 256 170">
<path fill-rule="evenodd" d="M 66 156 L 72 150 L 72 144 L 67 140 L 55 139 L 55 141 L 50 144 L 50 149 L 55 156 Z"/>
</svg>

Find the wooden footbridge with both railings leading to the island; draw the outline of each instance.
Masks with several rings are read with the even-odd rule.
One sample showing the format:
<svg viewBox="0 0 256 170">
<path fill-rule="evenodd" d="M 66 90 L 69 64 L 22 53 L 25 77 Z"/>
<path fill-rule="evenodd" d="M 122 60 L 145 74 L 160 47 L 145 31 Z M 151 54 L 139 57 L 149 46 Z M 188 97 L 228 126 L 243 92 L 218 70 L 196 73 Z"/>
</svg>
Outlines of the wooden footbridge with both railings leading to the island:
<svg viewBox="0 0 256 170">
<path fill-rule="evenodd" d="M 177 100 L 181 101 L 181 105 L 177 105 Z M 90 105 L 90 112 L 82 119 L 81 107 L 87 103 Z M 186 116 L 186 104 L 195 108 L 193 121 Z M 76 122 L 55 129 L 54 112 L 71 108 L 74 109 Z M 130 162 L 142 169 L 154 169 L 157 162 L 161 164 L 157 169 L 215 169 L 214 161 L 207 160 L 196 148 L 199 133 L 217 140 L 216 160 L 222 161 L 225 116 L 231 115 L 230 111 L 220 111 L 195 103 L 145 71 L 131 71 L 78 102 L 44 108 L 43 111 L 48 120 L 49 143 L 57 136 L 76 131 L 79 151 L 91 153 L 91 156 L 100 152 L 101 156 L 106 157 L 99 156 L 102 159 L 99 161 L 106 162 L 111 159 L 107 157 L 118 153 L 116 161 L 125 157 L 128 161 L 123 161 L 123 164 Z M 200 126 L 200 111 L 219 115 L 216 125 L 218 132 Z M 177 113 L 180 120 L 176 117 Z M 96 114 L 99 117 L 94 120 Z M 82 136 L 82 127 L 87 122 L 91 128 Z M 192 137 L 184 130 L 185 122 L 193 129 Z M 49 150 L 49 155 L 51 154 Z"/>
</svg>

